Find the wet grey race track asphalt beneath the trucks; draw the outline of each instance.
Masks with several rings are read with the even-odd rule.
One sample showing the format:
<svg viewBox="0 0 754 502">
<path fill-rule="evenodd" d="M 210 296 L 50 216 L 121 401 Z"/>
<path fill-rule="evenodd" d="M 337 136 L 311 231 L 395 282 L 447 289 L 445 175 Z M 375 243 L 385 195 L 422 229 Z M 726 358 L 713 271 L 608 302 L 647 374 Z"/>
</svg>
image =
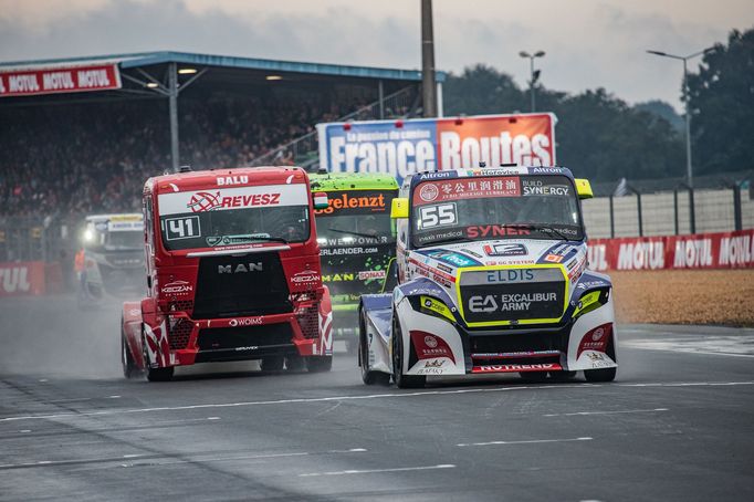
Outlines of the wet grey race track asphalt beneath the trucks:
<svg viewBox="0 0 754 502">
<path fill-rule="evenodd" d="M 619 327 L 612 384 L 121 376 L 116 306 L 0 300 L 0 500 L 754 500 L 754 330 Z"/>
</svg>

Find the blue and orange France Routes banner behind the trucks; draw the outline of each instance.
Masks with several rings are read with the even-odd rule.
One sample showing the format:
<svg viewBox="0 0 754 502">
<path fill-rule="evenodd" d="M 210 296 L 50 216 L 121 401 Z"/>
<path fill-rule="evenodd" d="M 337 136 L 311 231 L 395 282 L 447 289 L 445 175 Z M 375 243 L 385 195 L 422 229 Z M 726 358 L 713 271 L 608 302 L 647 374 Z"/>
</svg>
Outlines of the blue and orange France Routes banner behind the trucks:
<svg viewBox="0 0 754 502">
<path fill-rule="evenodd" d="M 331 172 L 389 172 L 555 165 L 551 113 L 317 124 L 320 167 Z"/>
</svg>

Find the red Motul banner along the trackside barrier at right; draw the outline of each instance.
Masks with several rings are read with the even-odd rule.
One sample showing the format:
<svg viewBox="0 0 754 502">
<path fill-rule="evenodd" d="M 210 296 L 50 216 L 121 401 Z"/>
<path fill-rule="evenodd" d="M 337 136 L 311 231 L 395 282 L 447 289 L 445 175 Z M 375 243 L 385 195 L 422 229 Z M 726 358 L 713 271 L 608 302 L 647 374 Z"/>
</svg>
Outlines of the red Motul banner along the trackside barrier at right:
<svg viewBox="0 0 754 502">
<path fill-rule="evenodd" d="M 596 271 L 741 268 L 754 268 L 754 229 L 589 241 Z"/>
</svg>

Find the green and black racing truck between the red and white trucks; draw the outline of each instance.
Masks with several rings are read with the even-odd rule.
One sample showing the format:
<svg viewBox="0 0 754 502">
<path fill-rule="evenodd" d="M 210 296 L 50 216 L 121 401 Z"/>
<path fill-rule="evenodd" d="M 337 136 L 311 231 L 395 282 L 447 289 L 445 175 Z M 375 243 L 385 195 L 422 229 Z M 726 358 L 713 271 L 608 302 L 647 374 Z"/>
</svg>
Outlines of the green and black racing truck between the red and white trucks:
<svg viewBox="0 0 754 502">
<path fill-rule="evenodd" d="M 358 346 L 362 294 L 391 291 L 396 239 L 390 205 L 398 182 L 387 174 L 310 175 L 312 194 L 327 194 L 327 208 L 314 211 L 322 279 L 333 302 L 335 339 L 349 353 Z"/>
</svg>

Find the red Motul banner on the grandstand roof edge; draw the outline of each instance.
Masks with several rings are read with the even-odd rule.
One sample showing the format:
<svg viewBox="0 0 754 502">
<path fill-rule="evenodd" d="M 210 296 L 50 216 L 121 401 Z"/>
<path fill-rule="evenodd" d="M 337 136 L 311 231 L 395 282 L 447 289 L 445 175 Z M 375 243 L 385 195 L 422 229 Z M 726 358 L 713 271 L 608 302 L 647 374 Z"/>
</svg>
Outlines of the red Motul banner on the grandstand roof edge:
<svg viewBox="0 0 754 502">
<path fill-rule="evenodd" d="M 117 64 L 0 71 L 0 97 L 121 88 Z"/>
</svg>

